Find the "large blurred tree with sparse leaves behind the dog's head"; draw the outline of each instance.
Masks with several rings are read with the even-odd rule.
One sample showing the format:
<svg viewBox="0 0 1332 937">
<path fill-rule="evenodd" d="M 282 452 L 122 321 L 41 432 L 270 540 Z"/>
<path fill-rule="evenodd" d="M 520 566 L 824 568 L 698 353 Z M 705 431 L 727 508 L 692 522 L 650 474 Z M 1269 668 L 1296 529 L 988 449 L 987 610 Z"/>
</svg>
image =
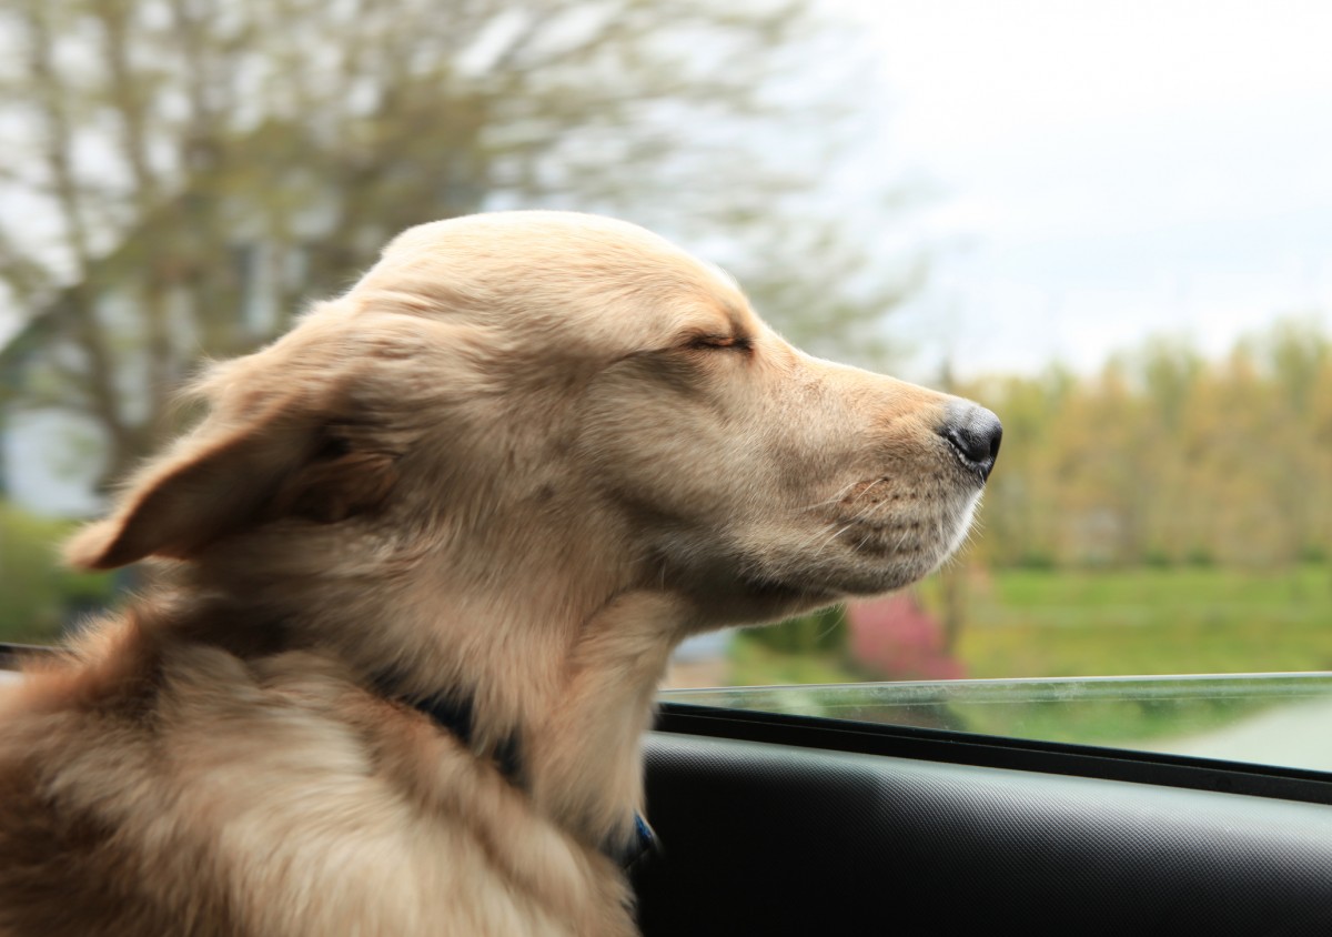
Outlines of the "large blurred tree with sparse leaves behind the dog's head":
<svg viewBox="0 0 1332 937">
<path fill-rule="evenodd" d="M 775 319 L 878 317 L 903 287 L 834 233 L 775 221 L 822 167 L 765 153 L 838 120 L 773 93 L 802 56 L 835 61 L 810 55 L 810 5 L 13 0 L 0 187 L 21 211 L 0 219 L 0 283 L 35 319 L 9 392 L 80 415 L 112 478 L 169 428 L 201 351 L 253 348 L 394 232 L 482 208 L 747 231 Z M 763 256 L 773 231 L 802 235 L 799 269 Z"/>
</svg>

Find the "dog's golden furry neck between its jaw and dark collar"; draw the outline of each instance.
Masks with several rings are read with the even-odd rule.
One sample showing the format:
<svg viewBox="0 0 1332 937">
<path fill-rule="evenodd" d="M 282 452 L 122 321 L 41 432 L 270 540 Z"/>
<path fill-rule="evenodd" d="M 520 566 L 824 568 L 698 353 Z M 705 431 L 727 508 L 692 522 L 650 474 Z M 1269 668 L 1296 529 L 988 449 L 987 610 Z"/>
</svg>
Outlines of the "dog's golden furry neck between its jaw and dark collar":
<svg viewBox="0 0 1332 937">
<path fill-rule="evenodd" d="M 586 581 L 578 596 L 503 582 L 486 594 L 453 582 L 385 577 L 366 588 L 325 578 L 317 596 L 274 593 L 272 604 L 285 605 L 294 645 L 333 653 L 373 692 L 454 706 L 449 730 L 464 732 L 574 836 L 611 852 L 631 844 L 643 800 L 641 738 L 691 618 L 687 602 L 613 584 L 591 590 Z M 229 601 L 254 598 L 264 601 Z"/>
</svg>

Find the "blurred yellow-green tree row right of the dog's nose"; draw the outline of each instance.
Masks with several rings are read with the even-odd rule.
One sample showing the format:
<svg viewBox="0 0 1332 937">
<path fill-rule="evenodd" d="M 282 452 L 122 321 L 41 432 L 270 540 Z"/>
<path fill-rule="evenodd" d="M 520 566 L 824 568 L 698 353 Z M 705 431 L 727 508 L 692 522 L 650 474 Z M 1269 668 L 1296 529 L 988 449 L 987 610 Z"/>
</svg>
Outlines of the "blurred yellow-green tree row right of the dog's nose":
<svg viewBox="0 0 1332 937">
<path fill-rule="evenodd" d="M 962 392 L 1004 421 L 982 561 L 1275 569 L 1332 546 L 1332 343 L 1312 323 L 1216 363 L 1152 341 L 1091 379 Z"/>
</svg>

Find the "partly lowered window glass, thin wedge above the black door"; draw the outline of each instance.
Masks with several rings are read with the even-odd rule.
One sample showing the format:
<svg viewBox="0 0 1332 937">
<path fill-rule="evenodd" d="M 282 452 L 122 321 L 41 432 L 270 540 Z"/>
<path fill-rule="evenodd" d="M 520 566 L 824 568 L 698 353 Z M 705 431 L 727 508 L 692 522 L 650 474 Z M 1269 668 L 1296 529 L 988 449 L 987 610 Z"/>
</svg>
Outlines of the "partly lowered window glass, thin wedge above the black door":
<svg viewBox="0 0 1332 937">
<path fill-rule="evenodd" d="M 1332 772 L 1332 674 L 667 689 L 665 702 Z"/>
</svg>

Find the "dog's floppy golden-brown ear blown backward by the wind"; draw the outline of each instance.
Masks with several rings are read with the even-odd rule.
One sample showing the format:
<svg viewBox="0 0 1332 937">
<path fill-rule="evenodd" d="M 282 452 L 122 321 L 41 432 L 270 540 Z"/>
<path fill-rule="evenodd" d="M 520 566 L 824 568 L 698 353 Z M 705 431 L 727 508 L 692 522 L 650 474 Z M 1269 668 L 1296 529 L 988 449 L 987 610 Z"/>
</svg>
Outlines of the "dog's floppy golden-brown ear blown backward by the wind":
<svg viewBox="0 0 1332 937">
<path fill-rule="evenodd" d="M 185 560 L 282 517 L 341 521 L 384 501 L 396 463 L 370 425 L 301 401 L 277 401 L 245 420 L 212 417 L 148 465 L 111 517 L 79 532 L 65 560 L 87 569 L 147 556 Z"/>
</svg>

